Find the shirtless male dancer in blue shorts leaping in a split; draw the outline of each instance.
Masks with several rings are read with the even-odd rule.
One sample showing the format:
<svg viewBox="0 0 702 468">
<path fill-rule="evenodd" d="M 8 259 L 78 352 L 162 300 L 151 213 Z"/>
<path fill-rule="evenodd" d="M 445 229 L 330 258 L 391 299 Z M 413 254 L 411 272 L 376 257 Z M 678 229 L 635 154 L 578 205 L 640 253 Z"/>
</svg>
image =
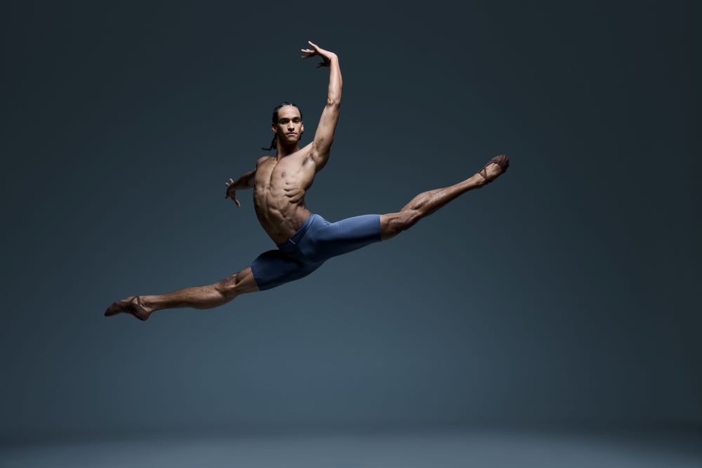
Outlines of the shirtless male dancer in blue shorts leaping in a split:
<svg viewBox="0 0 702 468">
<path fill-rule="evenodd" d="M 153 312 L 175 307 L 210 309 L 230 302 L 240 294 L 275 288 L 307 276 L 329 258 L 362 248 L 370 243 L 387 241 L 409 229 L 420 219 L 468 190 L 483 187 L 495 180 L 509 166 L 504 154 L 491 159 L 478 173 L 450 187 L 430 190 L 415 196 L 397 213 L 361 215 L 338 222 L 329 222 L 313 214 L 305 206 L 305 192 L 314 176 L 329 161 L 329 151 L 339 119 L 341 72 L 335 53 L 310 42 L 300 49 L 307 55 L 319 56 L 317 67 L 329 67 L 329 94 L 322 111 L 314 140 L 300 149 L 300 135 L 305 130 L 302 114 L 296 105 L 285 102 L 272 116 L 273 142 L 276 155 L 262 156 L 256 169 L 238 180 L 225 182 L 227 193 L 237 206 L 237 190 L 253 187 L 253 205 L 265 232 L 276 243 L 276 250 L 267 250 L 240 272 L 214 284 L 184 288 L 161 295 L 129 296 L 114 302 L 106 316 L 126 312 L 147 320 Z M 265 148 L 264 148 L 265 149 Z"/>
</svg>

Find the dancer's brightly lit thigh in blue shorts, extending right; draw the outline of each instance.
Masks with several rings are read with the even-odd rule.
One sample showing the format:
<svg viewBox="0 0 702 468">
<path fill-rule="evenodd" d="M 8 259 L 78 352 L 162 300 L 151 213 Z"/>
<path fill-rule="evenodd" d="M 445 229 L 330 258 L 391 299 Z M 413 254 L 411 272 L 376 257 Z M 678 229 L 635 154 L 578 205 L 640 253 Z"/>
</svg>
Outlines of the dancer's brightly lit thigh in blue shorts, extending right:
<svg viewBox="0 0 702 468">
<path fill-rule="evenodd" d="M 314 224 L 298 243 L 298 247 L 312 261 L 326 259 L 380 242 L 380 215 L 360 215 L 337 222 L 322 218 Z"/>
</svg>

